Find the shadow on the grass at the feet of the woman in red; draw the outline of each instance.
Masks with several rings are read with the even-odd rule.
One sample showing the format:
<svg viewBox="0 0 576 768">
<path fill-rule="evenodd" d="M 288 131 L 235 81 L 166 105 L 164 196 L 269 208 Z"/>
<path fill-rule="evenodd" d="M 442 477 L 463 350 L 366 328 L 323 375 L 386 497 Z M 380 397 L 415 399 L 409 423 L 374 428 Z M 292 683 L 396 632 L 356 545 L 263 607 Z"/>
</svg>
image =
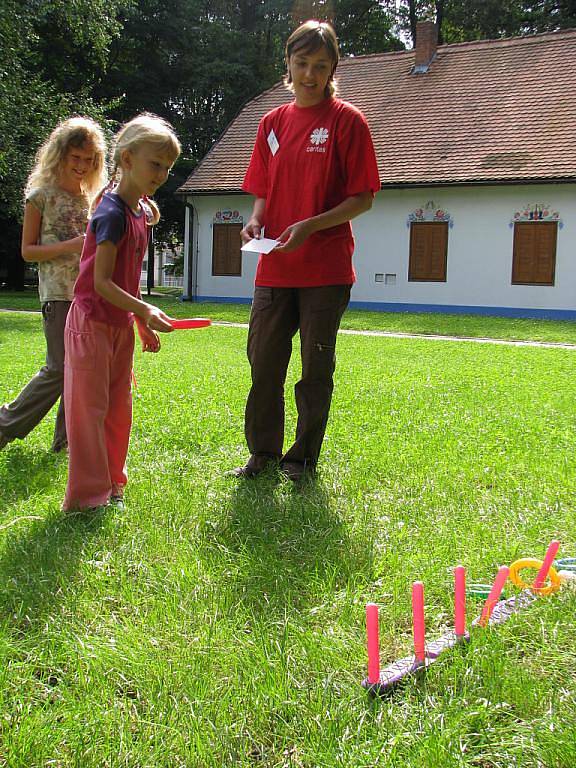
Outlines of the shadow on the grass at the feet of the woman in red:
<svg viewBox="0 0 576 768">
<path fill-rule="evenodd" d="M 266 473 L 240 481 L 215 536 L 222 556 L 231 558 L 236 603 L 256 613 L 315 604 L 369 561 L 321 479 L 292 486 Z"/>
</svg>

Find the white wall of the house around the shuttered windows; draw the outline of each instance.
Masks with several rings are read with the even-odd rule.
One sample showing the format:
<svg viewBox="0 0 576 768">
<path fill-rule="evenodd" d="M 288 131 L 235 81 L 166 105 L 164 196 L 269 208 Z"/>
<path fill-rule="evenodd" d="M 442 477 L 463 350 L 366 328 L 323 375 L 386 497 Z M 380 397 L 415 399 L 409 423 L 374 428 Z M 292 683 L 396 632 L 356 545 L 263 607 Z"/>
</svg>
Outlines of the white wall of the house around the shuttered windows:
<svg viewBox="0 0 576 768">
<path fill-rule="evenodd" d="M 410 213 L 428 201 L 450 214 L 447 281 L 408 281 Z M 196 197 L 198 212 L 199 297 L 252 295 L 255 255 L 243 254 L 242 277 L 212 277 L 212 219 L 219 209 L 250 215 L 246 196 Z M 512 285 L 515 211 L 543 203 L 560 213 L 554 286 Z M 576 308 L 576 195 L 574 185 L 522 185 L 498 187 L 385 190 L 372 210 L 353 223 L 356 237 L 354 263 L 358 281 L 353 302 L 393 303 L 419 308 L 490 307 L 541 310 Z M 376 274 L 396 275 L 394 284 L 376 282 Z M 405 308 L 405 307 L 403 307 Z"/>
</svg>

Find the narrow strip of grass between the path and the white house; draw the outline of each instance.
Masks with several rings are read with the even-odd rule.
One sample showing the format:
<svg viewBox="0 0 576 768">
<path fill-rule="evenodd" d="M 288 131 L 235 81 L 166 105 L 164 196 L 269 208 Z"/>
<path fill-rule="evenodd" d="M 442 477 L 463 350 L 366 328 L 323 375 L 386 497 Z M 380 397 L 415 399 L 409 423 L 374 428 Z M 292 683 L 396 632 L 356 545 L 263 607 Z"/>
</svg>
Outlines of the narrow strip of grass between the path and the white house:
<svg viewBox="0 0 576 768">
<path fill-rule="evenodd" d="M 222 304 L 179 300 L 179 289 L 158 289 L 146 301 L 161 307 L 173 317 L 210 317 L 231 323 L 247 323 L 249 304 Z M 0 309 L 39 310 L 35 289 L 22 293 L 0 292 Z M 476 315 L 444 315 L 432 312 L 372 312 L 349 309 L 342 319 L 342 328 L 390 333 L 411 333 L 440 336 L 488 337 L 519 341 L 543 341 L 576 344 L 576 322 L 569 320 L 530 320 Z"/>
</svg>

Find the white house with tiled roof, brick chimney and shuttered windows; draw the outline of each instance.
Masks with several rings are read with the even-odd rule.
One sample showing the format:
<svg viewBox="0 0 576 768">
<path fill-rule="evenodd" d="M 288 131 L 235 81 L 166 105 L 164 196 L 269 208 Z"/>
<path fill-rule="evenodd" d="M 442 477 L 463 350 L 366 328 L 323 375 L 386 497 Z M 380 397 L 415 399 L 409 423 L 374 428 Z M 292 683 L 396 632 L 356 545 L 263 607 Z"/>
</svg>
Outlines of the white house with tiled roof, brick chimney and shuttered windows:
<svg viewBox="0 0 576 768">
<path fill-rule="evenodd" d="M 351 306 L 576 319 L 576 30 L 345 59 L 340 96 L 372 130 L 382 181 L 353 222 Z M 184 298 L 249 301 L 241 192 L 260 117 L 249 102 L 179 190 Z"/>
</svg>

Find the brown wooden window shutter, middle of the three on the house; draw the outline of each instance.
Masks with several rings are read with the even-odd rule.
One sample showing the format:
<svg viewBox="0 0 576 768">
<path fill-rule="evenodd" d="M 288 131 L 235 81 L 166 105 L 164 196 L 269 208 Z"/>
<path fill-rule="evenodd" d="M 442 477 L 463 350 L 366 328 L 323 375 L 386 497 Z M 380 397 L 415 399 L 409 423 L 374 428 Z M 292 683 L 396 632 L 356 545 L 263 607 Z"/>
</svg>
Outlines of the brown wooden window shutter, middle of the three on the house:
<svg viewBox="0 0 576 768">
<path fill-rule="evenodd" d="M 408 280 L 446 282 L 448 222 L 412 222 Z"/>
</svg>

